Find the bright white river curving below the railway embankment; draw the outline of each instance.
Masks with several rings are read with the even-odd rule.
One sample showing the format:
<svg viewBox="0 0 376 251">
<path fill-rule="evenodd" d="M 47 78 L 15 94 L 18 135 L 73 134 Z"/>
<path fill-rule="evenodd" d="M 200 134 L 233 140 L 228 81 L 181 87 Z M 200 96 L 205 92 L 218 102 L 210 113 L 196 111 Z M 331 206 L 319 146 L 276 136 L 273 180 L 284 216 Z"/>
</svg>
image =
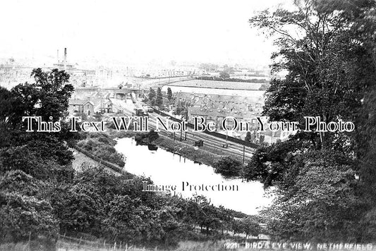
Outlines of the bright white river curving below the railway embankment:
<svg viewBox="0 0 376 251">
<path fill-rule="evenodd" d="M 132 138 L 122 138 L 115 148 L 126 156 L 126 171 L 150 177 L 157 185 L 176 185 L 176 193 L 183 197 L 197 193 L 216 206 L 245 214 L 257 214 L 272 200 L 265 195 L 260 182 L 224 178 L 211 166 L 195 163 L 160 147 L 150 150 L 147 145 L 136 145 Z M 202 185 L 207 185 L 210 191 L 202 191 Z"/>
</svg>

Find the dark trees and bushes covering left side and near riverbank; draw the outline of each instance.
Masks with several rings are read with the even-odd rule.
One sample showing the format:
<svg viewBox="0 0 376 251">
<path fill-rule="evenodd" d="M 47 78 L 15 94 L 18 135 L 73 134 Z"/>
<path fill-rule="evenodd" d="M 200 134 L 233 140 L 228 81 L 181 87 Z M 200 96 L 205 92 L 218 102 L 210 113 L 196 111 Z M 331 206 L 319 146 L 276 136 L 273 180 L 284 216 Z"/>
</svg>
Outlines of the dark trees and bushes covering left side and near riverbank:
<svg viewBox="0 0 376 251">
<path fill-rule="evenodd" d="M 124 161 L 114 149 L 115 141 L 103 133 L 26 133 L 20 115 L 51 115 L 58 121 L 73 92 L 64 71 L 37 69 L 32 74 L 34 84 L 11 91 L 0 87 L 5 105 L 0 107 L 5 132 L 0 135 L 0 243 L 41 236 L 56 240 L 60 233 L 174 246 L 183 239 L 221 238 L 235 226 L 234 216 L 245 216 L 214 207 L 205 197 L 186 200 L 142 192 L 142 181 L 152 184 L 149 178 L 110 173 L 102 166 L 83 165 L 75 171 L 67 141 L 120 166 Z M 145 134 L 148 142 L 157 137 L 154 131 Z M 255 226 L 253 221 L 250 226 Z M 238 233 L 248 233 L 241 229 Z"/>
</svg>

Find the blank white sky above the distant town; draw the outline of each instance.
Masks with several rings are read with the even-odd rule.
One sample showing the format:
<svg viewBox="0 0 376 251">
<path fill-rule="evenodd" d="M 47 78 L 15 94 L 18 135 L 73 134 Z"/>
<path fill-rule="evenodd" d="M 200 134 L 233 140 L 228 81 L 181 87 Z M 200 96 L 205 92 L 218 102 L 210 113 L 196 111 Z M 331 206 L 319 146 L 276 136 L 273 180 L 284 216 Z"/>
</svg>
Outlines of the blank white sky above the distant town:
<svg viewBox="0 0 376 251">
<path fill-rule="evenodd" d="M 265 64 L 272 41 L 250 27 L 281 0 L 0 0 L 0 58 Z"/>
</svg>

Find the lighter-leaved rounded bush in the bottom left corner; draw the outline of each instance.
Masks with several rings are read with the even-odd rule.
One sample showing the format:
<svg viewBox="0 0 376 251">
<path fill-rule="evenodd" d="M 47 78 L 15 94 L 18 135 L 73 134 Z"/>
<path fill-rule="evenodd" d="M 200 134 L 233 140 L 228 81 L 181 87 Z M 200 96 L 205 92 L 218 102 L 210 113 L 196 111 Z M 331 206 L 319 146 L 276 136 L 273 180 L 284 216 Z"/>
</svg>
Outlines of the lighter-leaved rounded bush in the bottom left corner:
<svg viewBox="0 0 376 251">
<path fill-rule="evenodd" d="M 0 176 L 1 240 L 20 241 L 37 235 L 56 238 L 59 226 L 51 205 L 42 195 L 40 180 L 23 171 L 8 171 Z"/>
</svg>

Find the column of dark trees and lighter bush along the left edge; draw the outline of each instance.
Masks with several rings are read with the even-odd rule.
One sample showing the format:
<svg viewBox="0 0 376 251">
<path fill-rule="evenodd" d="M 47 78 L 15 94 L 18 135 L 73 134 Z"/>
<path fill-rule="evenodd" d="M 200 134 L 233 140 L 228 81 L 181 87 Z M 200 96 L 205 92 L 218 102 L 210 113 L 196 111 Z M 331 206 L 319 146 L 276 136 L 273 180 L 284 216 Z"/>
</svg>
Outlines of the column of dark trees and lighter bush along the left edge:
<svg viewBox="0 0 376 251">
<path fill-rule="evenodd" d="M 37 68 L 32 77 L 35 83 L 16 85 L 10 92 L 0 88 L 0 122 L 7 132 L 0 140 L 4 144 L 0 145 L 0 234 L 4 241 L 33 240 L 38 235 L 56 238 L 59 224 L 49 201 L 50 188 L 73 180 L 73 154 L 63 142 L 73 133 L 65 133 L 69 130 L 66 123 L 61 121 L 60 133 L 27 133 L 22 122 L 23 116 L 40 116 L 44 121 L 64 118 L 73 92 L 69 75 Z"/>
</svg>

